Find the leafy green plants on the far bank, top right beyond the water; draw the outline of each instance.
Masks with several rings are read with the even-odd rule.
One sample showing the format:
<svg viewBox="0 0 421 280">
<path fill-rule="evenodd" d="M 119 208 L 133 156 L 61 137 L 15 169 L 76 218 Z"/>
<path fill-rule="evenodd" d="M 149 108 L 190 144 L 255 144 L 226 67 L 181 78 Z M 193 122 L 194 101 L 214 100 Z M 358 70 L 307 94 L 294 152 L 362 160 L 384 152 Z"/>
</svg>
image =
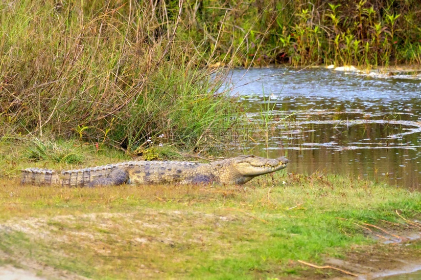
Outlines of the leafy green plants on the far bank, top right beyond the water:
<svg viewBox="0 0 421 280">
<path fill-rule="evenodd" d="M 421 42 L 418 2 L 300 0 L 280 1 L 277 9 L 287 7 L 290 17 L 278 17 L 270 30 L 274 39 L 268 40 L 278 40 L 280 47 L 274 60 L 367 67 L 421 63 L 415 51 Z"/>
</svg>

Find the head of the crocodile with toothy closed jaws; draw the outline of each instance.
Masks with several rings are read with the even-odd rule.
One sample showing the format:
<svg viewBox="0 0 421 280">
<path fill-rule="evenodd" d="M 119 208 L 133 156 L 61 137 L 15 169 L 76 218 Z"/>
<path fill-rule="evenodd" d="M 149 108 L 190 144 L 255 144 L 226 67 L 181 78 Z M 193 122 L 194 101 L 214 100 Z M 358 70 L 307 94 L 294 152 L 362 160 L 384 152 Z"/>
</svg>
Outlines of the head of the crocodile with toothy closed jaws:
<svg viewBox="0 0 421 280">
<path fill-rule="evenodd" d="M 222 183 L 241 185 L 258 175 L 284 169 L 288 160 L 284 157 L 271 159 L 254 155 L 242 155 L 231 158 L 228 162 L 215 163 L 215 167 L 220 169 L 219 176 Z"/>
</svg>

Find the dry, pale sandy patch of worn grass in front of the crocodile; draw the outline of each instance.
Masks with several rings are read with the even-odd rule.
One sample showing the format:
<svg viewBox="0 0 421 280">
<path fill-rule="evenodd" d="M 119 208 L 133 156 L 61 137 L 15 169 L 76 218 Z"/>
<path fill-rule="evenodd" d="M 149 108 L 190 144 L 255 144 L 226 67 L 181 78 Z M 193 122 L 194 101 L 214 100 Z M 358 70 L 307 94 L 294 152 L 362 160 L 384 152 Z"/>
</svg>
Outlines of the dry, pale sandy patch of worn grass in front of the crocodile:
<svg viewBox="0 0 421 280">
<path fill-rule="evenodd" d="M 0 224 L 2 232 L 23 232 L 34 238 L 51 239 L 71 245 L 77 240 L 78 244 L 91 247 L 95 240 L 104 236 L 119 239 L 120 235 L 128 234 L 133 239 L 120 240 L 129 243 L 164 243 L 178 242 L 202 243 L 206 237 L 195 231 L 188 238 L 180 233 L 183 229 L 201 229 L 209 224 L 221 224 L 235 220 L 235 216 L 220 216 L 195 212 L 182 211 L 154 211 L 146 210 L 143 215 L 121 213 L 92 213 L 83 215 L 58 215 L 54 217 L 31 217 L 25 220 L 10 219 Z M 116 234 L 118 227 L 119 234 Z M 176 226 L 177 230 L 174 229 Z M 68 230 L 62 231 L 65 227 Z M 210 234 L 213 237 L 214 234 Z M 143 236 L 143 237 L 139 237 Z M 147 238 L 146 238 L 147 237 Z M 209 241 L 211 242 L 211 241 Z M 101 249 L 102 250 L 102 249 Z M 98 252 L 104 254 L 107 252 Z"/>
</svg>

